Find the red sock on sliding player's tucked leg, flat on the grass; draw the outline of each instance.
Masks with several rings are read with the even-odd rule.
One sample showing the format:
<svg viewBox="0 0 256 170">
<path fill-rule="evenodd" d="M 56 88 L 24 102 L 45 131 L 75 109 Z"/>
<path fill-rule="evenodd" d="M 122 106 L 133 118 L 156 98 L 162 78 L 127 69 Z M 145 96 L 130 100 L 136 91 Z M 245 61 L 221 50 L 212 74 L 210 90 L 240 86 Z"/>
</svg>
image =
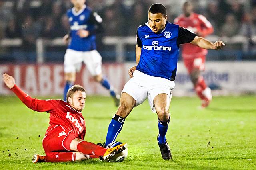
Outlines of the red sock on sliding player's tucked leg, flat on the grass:
<svg viewBox="0 0 256 170">
<path fill-rule="evenodd" d="M 68 162 L 75 161 L 75 152 L 49 152 L 44 156 L 46 162 Z"/>
</svg>

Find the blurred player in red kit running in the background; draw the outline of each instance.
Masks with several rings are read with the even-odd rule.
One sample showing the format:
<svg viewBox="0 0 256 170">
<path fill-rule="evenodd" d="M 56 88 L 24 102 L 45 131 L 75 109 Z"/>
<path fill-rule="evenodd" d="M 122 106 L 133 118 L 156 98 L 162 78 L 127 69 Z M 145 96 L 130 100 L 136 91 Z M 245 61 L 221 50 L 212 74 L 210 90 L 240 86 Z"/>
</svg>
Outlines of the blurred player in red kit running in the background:
<svg viewBox="0 0 256 170">
<path fill-rule="evenodd" d="M 183 5 L 183 12 L 177 18 L 174 23 L 193 31 L 199 37 L 205 37 L 213 33 L 213 27 L 211 23 L 202 15 L 193 12 L 193 6 L 191 2 L 186 1 Z M 201 72 L 204 71 L 204 63 L 207 50 L 186 43 L 182 45 L 182 58 L 184 64 L 190 74 L 190 79 L 194 85 L 194 89 L 202 100 L 202 108 L 207 107 L 212 100 L 211 89 L 206 85 Z"/>
</svg>

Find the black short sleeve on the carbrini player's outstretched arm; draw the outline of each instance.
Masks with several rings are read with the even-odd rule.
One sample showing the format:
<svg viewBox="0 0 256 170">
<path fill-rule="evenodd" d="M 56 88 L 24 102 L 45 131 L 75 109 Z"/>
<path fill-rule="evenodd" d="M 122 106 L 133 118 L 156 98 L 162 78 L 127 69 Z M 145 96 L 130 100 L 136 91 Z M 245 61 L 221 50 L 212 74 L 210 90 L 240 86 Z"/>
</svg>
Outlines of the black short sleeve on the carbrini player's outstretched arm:
<svg viewBox="0 0 256 170">
<path fill-rule="evenodd" d="M 194 40 L 195 37 L 196 37 L 195 33 L 192 33 L 191 31 L 183 27 L 179 27 L 177 45 L 179 46 L 180 44 L 190 43 L 191 41 Z"/>
</svg>

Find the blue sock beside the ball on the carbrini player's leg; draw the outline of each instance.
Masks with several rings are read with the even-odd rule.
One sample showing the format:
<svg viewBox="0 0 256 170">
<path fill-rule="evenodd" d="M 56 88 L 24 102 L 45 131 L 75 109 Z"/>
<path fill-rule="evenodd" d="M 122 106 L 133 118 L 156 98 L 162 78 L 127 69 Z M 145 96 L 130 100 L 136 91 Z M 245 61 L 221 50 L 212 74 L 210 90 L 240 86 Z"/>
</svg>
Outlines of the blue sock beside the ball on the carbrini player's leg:
<svg viewBox="0 0 256 170">
<path fill-rule="evenodd" d="M 114 142 L 118 133 L 122 130 L 125 119 L 119 115 L 114 115 L 108 126 L 108 133 L 106 137 L 106 145 Z"/>
</svg>

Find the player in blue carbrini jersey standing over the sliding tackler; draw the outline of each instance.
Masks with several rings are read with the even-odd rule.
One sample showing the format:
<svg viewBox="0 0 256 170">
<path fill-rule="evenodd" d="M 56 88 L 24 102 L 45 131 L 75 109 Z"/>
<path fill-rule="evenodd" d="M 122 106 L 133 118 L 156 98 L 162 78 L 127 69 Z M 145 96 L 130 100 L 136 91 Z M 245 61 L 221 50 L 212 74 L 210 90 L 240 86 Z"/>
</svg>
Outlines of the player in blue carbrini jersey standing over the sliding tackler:
<svg viewBox="0 0 256 170">
<path fill-rule="evenodd" d="M 158 117 L 158 145 L 163 159 L 172 159 L 166 132 L 170 122 L 169 106 L 177 71 L 179 45 L 192 43 L 204 49 L 221 49 L 222 41 L 207 39 L 167 21 L 166 8 L 153 4 L 148 10 L 148 22 L 137 29 L 136 63 L 129 69 L 131 79 L 122 91 L 120 106 L 113 116 L 106 136 L 106 145 L 115 141 L 125 118 L 132 109 L 148 98 Z"/>
</svg>

